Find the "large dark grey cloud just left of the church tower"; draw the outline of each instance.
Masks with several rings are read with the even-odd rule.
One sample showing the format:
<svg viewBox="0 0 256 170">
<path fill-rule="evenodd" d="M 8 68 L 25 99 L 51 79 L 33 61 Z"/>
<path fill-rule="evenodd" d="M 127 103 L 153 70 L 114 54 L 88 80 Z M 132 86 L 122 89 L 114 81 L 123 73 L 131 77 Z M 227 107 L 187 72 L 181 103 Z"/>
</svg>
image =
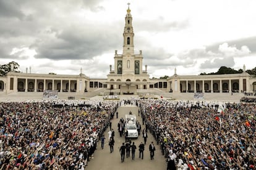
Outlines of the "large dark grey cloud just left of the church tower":
<svg viewBox="0 0 256 170">
<path fill-rule="evenodd" d="M 71 26 L 48 40 L 33 44 L 38 59 L 74 60 L 91 59 L 107 51 L 114 51 L 119 45 L 119 36 L 113 31 L 105 32 L 106 26 L 88 25 L 94 29 Z M 109 29 L 110 30 L 110 29 Z"/>
</svg>

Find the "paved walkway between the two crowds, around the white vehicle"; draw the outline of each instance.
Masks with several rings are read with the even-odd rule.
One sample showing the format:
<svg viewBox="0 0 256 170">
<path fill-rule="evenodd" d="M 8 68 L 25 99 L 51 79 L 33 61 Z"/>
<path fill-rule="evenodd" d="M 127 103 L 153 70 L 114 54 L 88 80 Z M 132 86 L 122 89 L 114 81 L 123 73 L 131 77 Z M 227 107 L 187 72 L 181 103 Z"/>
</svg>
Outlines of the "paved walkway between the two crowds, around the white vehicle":
<svg viewBox="0 0 256 170">
<path fill-rule="evenodd" d="M 97 170 L 126 170 L 126 169 L 166 169 L 167 164 L 165 162 L 164 156 L 161 154 L 161 148 L 160 145 L 156 145 L 156 141 L 153 138 L 153 136 L 148 132 L 148 139 L 147 144 L 145 145 L 144 150 L 144 158 L 143 160 L 139 158 L 139 144 L 140 142 L 143 142 L 142 132 L 140 133 L 140 136 L 138 139 L 132 139 L 132 142 L 135 143 L 137 150 L 135 152 L 135 159 L 132 160 L 132 156 L 130 153 L 129 158 L 124 158 L 124 162 L 121 162 L 121 155 L 119 153 L 119 148 L 122 145 L 122 142 L 125 142 L 124 136 L 120 137 L 119 132 L 117 130 L 117 123 L 119 122 L 120 118 L 125 119 L 125 115 L 129 114 L 129 111 L 132 111 L 132 114 L 137 116 L 137 119 L 139 120 L 140 124 L 142 125 L 142 118 L 141 116 L 138 116 L 139 108 L 135 105 L 121 105 L 117 109 L 118 112 L 118 118 L 116 118 L 116 113 L 114 115 L 114 118 L 111 120 L 112 122 L 112 129 L 114 129 L 115 136 L 114 136 L 114 152 L 110 153 L 110 148 L 108 145 L 108 131 L 109 127 L 106 130 L 105 134 L 105 146 L 103 149 L 101 149 L 101 142 L 99 141 L 97 144 L 97 149 L 94 153 L 94 159 L 90 159 L 90 162 L 88 163 L 88 166 L 86 169 L 97 169 Z M 145 128 L 145 125 L 142 125 L 142 129 Z M 150 152 L 149 152 L 149 144 L 151 142 L 154 142 L 156 151 L 155 156 L 153 160 L 150 160 Z"/>
</svg>

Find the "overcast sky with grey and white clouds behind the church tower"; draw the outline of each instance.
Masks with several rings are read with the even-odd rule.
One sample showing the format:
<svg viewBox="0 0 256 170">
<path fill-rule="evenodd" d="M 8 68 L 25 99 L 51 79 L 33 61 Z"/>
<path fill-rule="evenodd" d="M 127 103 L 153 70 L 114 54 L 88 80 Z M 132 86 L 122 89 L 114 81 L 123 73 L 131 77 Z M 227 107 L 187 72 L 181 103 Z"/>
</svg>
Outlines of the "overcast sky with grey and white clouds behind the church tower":
<svg viewBox="0 0 256 170">
<path fill-rule="evenodd" d="M 106 78 L 127 2 L 150 78 L 256 67 L 255 0 L 0 0 L 0 65 Z"/>
</svg>

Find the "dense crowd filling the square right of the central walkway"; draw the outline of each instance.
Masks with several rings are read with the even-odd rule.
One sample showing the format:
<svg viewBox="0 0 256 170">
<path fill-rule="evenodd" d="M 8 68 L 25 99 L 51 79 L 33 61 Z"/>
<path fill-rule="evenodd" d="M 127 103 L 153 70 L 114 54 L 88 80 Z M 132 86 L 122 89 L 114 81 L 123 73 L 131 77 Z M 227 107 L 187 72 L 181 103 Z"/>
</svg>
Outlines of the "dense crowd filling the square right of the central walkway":
<svg viewBox="0 0 256 170">
<path fill-rule="evenodd" d="M 255 103 L 143 100 L 168 169 L 255 169 Z"/>
</svg>

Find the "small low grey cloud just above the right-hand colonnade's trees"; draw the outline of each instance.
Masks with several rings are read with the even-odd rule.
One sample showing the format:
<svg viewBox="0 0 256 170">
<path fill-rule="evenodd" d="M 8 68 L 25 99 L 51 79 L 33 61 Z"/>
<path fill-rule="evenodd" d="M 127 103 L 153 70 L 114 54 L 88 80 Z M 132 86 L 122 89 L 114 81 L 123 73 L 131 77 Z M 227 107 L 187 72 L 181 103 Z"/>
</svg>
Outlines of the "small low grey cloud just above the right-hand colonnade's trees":
<svg viewBox="0 0 256 170">
<path fill-rule="evenodd" d="M 206 60 L 200 65 L 200 69 L 220 68 L 221 66 L 233 68 L 234 64 L 233 57 L 225 57 L 223 59 L 214 59 L 213 61 Z"/>
</svg>

